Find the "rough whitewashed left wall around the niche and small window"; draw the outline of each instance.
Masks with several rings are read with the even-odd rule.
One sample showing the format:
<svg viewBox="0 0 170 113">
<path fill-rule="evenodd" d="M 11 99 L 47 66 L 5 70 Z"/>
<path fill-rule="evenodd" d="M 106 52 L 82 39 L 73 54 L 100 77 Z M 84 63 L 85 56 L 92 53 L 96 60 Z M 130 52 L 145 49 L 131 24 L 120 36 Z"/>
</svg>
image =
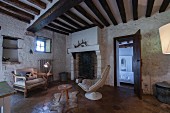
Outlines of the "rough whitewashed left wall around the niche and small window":
<svg viewBox="0 0 170 113">
<path fill-rule="evenodd" d="M 13 77 L 12 77 L 11 71 L 18 69 L 18 68 L 26 68 L 26 67 L 38 68 L 38 60 L 40 59 L 55 58 L 54 63 L 53 63 L 54 65 L 53 72 L 55 72 L 55 70 L 57 70 L 58 68 L 61 68 L 61 67 L 57 67 L 56 65 L 61 64 L 61 61 L 64 62 L 65 60 L 65 58 L 63 58 L 63 56 L 65 55 L 65 35 L 58 35 L 57 33 L 53 33 L 48 30 L 41 30 L 37 32 L 36 33 L 37 36 L 51 38 L 52 48 L 55 47 L 55 49 L 52 49 L 52 53 L 38 53 L 38 52 L 34 52 L 36 38 L 33 36 L 25 35 L 26 28 L 27 28 L 26 23 L 13 19 L 9 16 L 0 14 L 0 26 L 1 26 L 0 36 L 8 35 L 8 36 L 20 37 L 24 39 L 24 40 L 18 40 L 18 46 L 22 48 L 18 50 L 19 62 L 21 62 L 21 64 L 14 64 L 14 65 L 5 64 L 4 65 L 1 62 L 2 60 L 0 60 L 0 66 L 2 65 L 0 67 L 0 69 L 2 68 L 0 70 L 0 73 L 2 73 L 0 75 L 0 81 L 5 80 L 5 81 L 8 81 L 10 84 L 13 83 Z M 2 43 L 2 38 L 3 37 L 1 36 L 0 37 L 1 43 Z M 0 45 L 0 47 L 1 46 L 2 44 Z M 33 50 L 34 52 L 33 54 L 29 53 L 30 49 Z M 64 55 L 60 55 L 61 53 Z M 0 52 L 0 57 L 2 58 L 2 51 Z M 61 59 L 61 58 L 63 58 L 64 60 L 56 60 L 56 59 Z M 65 63 L 63 63 L 62 66 L 65 66 Z M 58 75 L 54 74 L 55 79 L 57 79 L 56 76 Z"/>
</svg>

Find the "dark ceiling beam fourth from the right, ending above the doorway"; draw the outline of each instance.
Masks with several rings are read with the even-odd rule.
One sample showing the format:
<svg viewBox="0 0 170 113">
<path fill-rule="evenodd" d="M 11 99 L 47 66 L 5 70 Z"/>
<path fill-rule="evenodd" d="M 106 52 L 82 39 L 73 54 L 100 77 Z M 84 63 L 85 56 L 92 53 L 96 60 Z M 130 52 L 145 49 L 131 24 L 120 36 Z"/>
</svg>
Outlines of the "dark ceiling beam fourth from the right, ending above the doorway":
<svg viewBox="0 0 170 113">
<path fill-rule="evenodd" d="M 126 23 L 126 12 L 125 12 L 125 7 L 124 7 L 124 3 L 123 3 L 123 0 L 116 0 L 117 2 L 117 6 L 118 6 L 118 9 L 119 9 L 119 12 L 120 12 L 120 16 L 122 18 L 122 22 L 123 23 Z"/>
</svg>

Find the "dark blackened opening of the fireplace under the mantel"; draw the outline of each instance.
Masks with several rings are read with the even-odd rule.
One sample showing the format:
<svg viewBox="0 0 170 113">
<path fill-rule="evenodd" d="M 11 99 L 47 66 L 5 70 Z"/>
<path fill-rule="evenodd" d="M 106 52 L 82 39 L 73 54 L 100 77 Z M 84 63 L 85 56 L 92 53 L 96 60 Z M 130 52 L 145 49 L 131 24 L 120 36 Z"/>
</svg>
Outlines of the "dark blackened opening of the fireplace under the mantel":
<svg viewBox="0 0 170 113">
<path fill-rule="evenodd" d="M 97 56 L 95 51 L 76 53 L 76 78 L 94 79 L 96 77 Z"/>
</svg>

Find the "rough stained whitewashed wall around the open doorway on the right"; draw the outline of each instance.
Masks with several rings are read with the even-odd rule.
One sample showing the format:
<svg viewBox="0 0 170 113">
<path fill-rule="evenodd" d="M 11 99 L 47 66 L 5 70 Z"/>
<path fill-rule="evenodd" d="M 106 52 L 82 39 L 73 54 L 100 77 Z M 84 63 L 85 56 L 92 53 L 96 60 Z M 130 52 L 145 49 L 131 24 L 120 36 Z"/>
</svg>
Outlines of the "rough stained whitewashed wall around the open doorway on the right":
<svg viewBox="0 0 170 113">
<path fill-rule="evenodd" d="M 170 81 L 170 56 L 162 54 L 159 27 L 170 23 L 170 10 L 155 14 L 149 18 L 140 18 L 125 24 L 103 29 L 105 44 L 105 63 L 111 65 L 108 85 L 114 85 L 113 38 L 134 34 L 141 30 L 142 89 L 145 94 L 152 94 L 155 82 Z"/>
</svg>

